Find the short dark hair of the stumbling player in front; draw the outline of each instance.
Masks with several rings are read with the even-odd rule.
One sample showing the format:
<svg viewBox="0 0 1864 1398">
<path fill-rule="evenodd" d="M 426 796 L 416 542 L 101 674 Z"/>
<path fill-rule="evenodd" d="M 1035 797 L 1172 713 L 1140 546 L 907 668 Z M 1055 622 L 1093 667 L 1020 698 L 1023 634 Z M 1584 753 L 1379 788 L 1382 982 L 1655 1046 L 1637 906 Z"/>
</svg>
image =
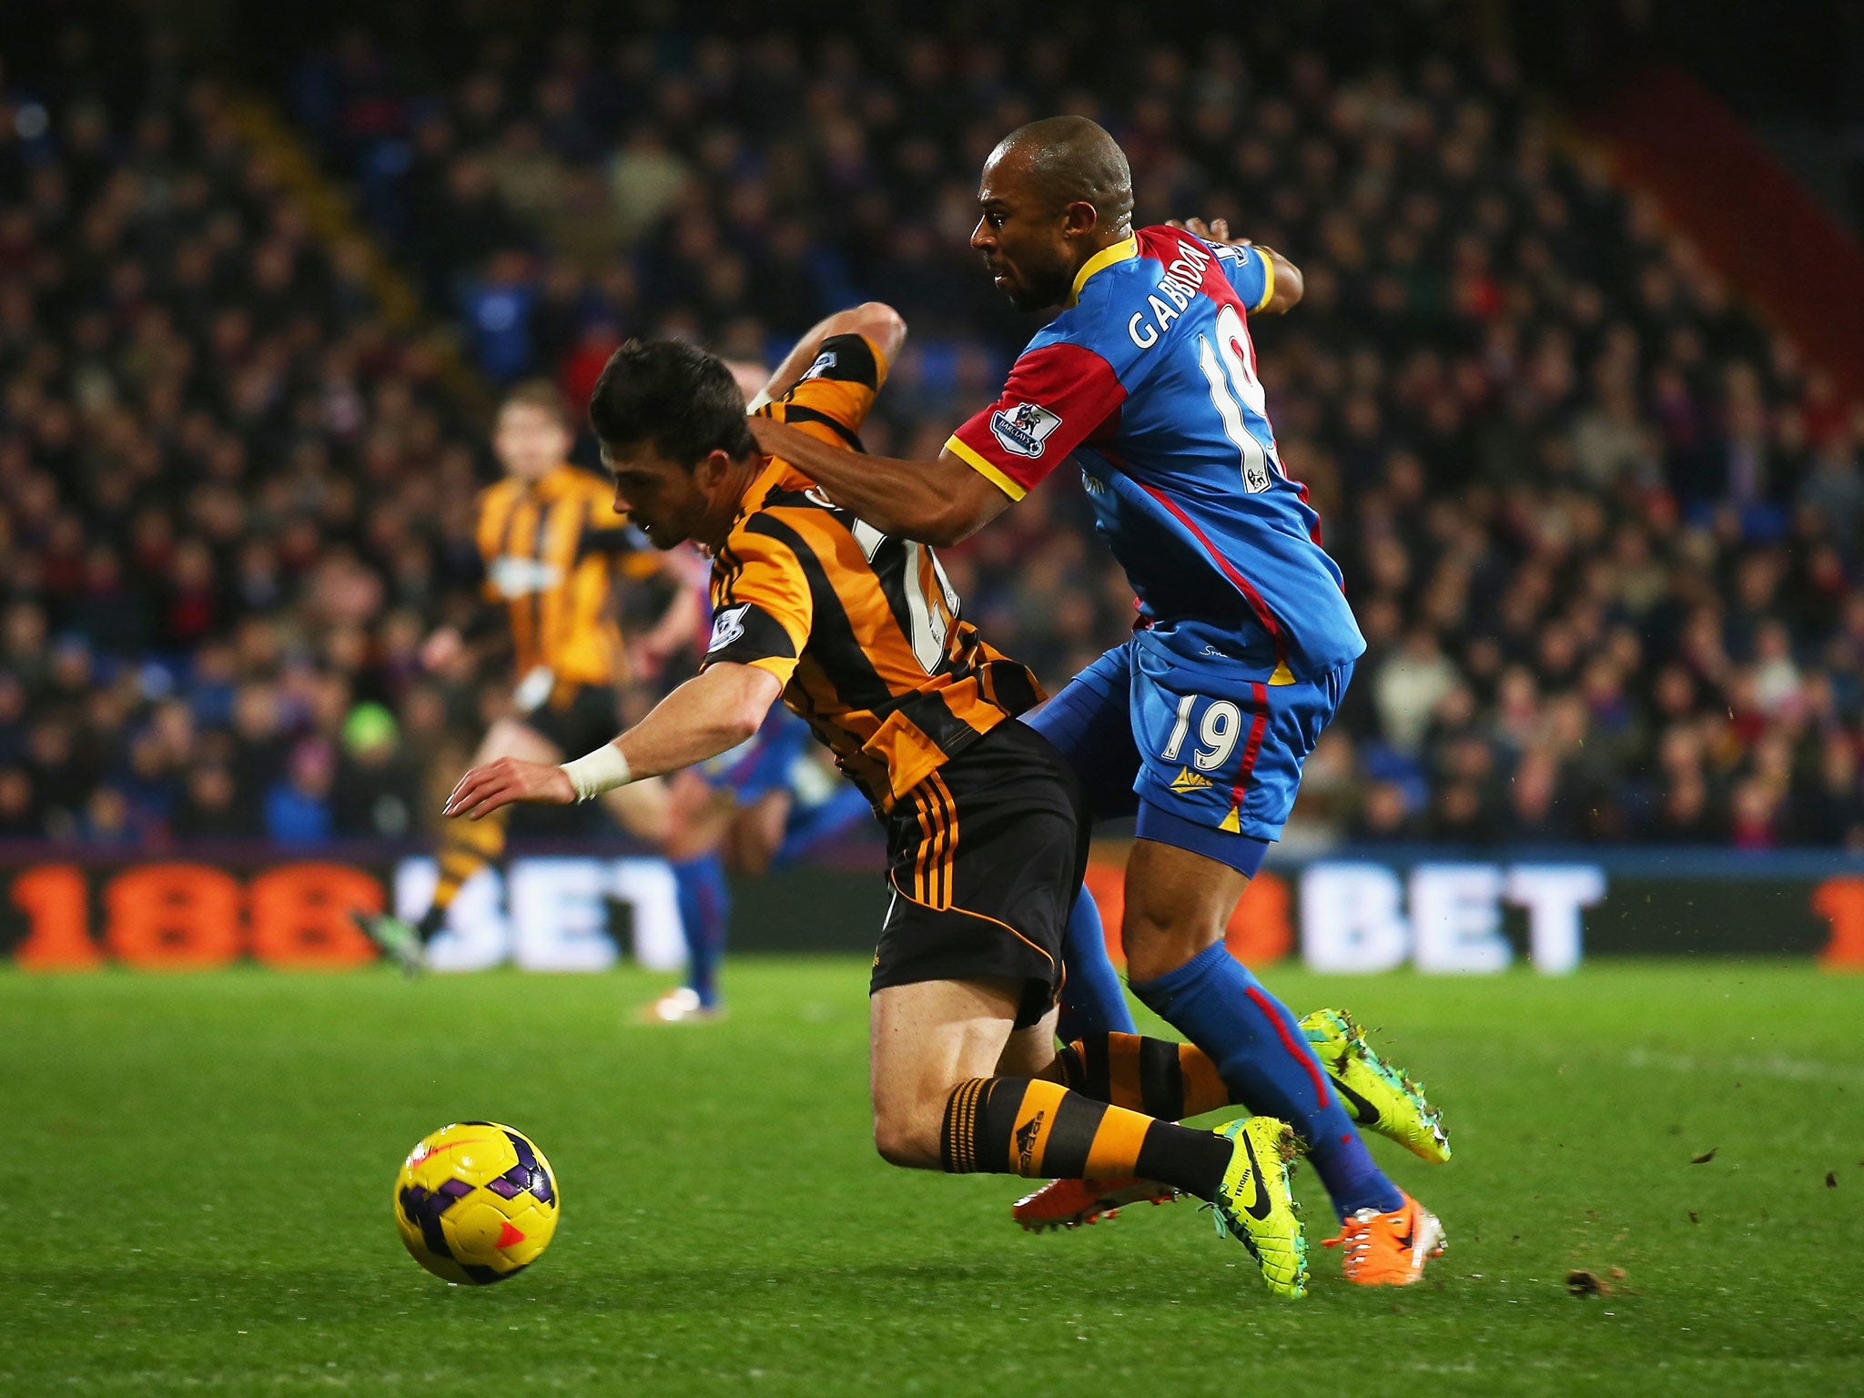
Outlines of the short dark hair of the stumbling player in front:
<svg viewBox="0 0 1864 1398">
<path fill-rule="evenodd" d="M 595 380 L 589 425 L 608 445 L 652 442 L 688 470 L 714 451 L 734 460 L 757 453 L 731 369 L 677 339 L 637 339 L 615 350 Z"/>
</svg>

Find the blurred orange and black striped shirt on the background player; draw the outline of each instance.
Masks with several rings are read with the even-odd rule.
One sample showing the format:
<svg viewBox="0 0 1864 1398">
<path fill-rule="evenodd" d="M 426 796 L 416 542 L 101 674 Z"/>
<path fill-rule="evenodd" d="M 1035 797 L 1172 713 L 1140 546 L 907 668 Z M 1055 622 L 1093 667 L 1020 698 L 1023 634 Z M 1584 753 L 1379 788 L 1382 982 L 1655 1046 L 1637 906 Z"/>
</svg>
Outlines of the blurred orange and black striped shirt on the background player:
<svg viewBox="0 0 1864 1398">
<path fill-rule="evenodd" d="M 569 464 L 541 481 L 507 477 L 479 498 L 485 595 L 505 604 L 518 675 L 546 665 L 557 684 L 624 678 L 611 593 L 615 570 L 634 569 L 615 550 L 621 524 L 613 490 Z"/>
</svg>

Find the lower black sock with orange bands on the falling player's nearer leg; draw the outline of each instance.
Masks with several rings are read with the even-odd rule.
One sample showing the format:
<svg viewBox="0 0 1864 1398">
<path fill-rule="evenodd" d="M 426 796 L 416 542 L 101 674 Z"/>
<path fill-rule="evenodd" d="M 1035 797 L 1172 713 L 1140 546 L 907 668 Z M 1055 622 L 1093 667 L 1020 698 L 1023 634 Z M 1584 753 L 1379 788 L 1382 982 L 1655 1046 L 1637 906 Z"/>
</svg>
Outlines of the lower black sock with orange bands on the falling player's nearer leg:
<svg viewBox="0 0 1864 1398">
<path fill-rule="evenodd" d="M 947 1174 L 1031 1180 L 1158 1180 L 1213 1199 L 1230 1165 L 1213 1131 L 1161 1122 L 1036 1077 L 973 1077 L 945 1102 L 939 1163 Z"/>
</svg>

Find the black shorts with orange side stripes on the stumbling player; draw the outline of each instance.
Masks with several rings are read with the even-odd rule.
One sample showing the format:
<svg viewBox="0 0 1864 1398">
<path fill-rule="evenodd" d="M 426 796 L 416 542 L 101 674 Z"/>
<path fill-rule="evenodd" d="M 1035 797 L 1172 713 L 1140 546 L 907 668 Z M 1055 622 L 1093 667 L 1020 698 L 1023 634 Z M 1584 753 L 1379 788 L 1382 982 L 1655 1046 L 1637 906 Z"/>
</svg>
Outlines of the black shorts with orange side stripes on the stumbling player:
<svg viewBox="0 0 1864 1398">
<path fill-rule="evenodd" d="M 902 796 L 887 816 L 893 900 L 872 990 L 1020 980 L 1016 1027 L 1061 995 L 1061 943 L 1087 870 L 1074 775 L 1048 738 L 1005 721 Z"/>
</svg>

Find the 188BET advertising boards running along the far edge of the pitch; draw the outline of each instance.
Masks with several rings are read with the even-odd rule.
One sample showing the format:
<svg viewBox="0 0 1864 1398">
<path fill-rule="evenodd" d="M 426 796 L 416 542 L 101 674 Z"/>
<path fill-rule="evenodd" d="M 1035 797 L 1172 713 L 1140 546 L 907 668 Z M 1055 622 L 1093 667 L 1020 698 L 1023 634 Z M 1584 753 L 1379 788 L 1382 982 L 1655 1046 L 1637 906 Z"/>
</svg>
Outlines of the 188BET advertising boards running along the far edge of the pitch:
<svg viewBox="0 0 1864 1398">
<path fill-rule="evenodd" d="M 1122 859 L 1102 848 L 1089 889 L 1120 958 Z M 240 960 L 345 969 L 377 953 L 352 911 L 418 917 L 425 857 L 65 859 L 0 863 L 0 956 L 24 969 L 209 969 Z M 792 869 L 744 889 L 742 951 L 867 951 L 885 904 L 874 872 Z M 1230 919 L 1251 966 L 1299 953 L 1316 971 L 1547 975 L 1596 956 L 1817 956 L 1864 967 L 1864 867 L 1840 857 L 1594 861 L 1329 857 L 1264 869 Z M 673 874 L 654 857 L 554 854 L 481 870 L 431 943 L 440 971 L 600 971 L 626 956 L 680 964 Z"/>
</svg>

